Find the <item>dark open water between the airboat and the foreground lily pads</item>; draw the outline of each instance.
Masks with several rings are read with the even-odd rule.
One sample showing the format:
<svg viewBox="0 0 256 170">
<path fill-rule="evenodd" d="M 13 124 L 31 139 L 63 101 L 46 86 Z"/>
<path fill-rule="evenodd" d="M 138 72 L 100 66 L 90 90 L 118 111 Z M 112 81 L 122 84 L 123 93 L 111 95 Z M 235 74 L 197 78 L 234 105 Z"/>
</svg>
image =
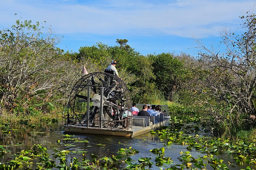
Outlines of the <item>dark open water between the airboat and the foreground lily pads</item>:
<svg viewBox="0 0 256 170">
<path fill-rule="evenodd" d="M 142 134 L 136 138 L 125 138 L 125 137 L 114 137 L 108 135 L 92 135 L 92 134 L 70 134 L 65 133 L 61 129 L 54 131 L 43 129 L 42 132 L 35 132 L 24 128 L 23 126 L 8 131 L 2 131 L 0 134 L 0 146 L 4 146 L 6 150 L 11 152 L 0 157 L 0 163 L 10 162 L 13 159 L 13 154 L 20 152 L 21 150 L 30 150 L 34 144 L 42 144 L 48 149 L 49 154 L 54 154 L 55 151 L 52 147 L 54 145 L 61 150 L 69 150 L 67 160 L 70 162 L 74 157 L 82 159 L 81 152 L 86 154 L 87 159 L 91 159 L 93 155 L 102 157 L 111 157 L 112 155 L 118 155 L 117 151 L 119 148 L 130 148 L 139 151 L 138 154 L 129 155 L 132 160 L 137 161 L 139 158 L 151 158 L 151 162 L 154 162 L 156 154 L 150 152 L 151 149 L 165 148 L 165 157 L 171 157 L 173 165 L 181 164 L 179 157 L 180 152 L 186 152 L 187 146 L 183 146 L 179 143 L 172 143 L 170 146 L 165 146 L 165 140 L 159 140 L 156 134 Z M 86 142 L 77 142 L 75 140 L 67 140 L 67 136 L 71 135 L 70 138 L 78 139 Z M 60 140 L 60 143 L 57 141 Z M 79 152 L 80 151 L 80 152 Z M 190 154 L 194 158 L 198 156 L 207 155 L 199 150 L 189 150 Z M 223 159 L 223 163 L 228 166 L 229 169 L 241 169 L 248 165 L 236 166 L 229 163 L 234 162 L 232 155 L 227 152 L 223 152 L 220 155 L 214 155 L 214 158 Z M 54 157 L 51 158 L 54 160 Z M 55 160 L 58 164 L 59 160 Z M 124 168 L 126 164 L 122 164 L 119 168 Z M 164 164 L 163 168 L 169 168 L 171 165 Z M 213 169 L 210 165 L 206 166 L 207 169 Z M 157 166 L 152 166 L 150 169 L 159 169 Z"/>
</svg>

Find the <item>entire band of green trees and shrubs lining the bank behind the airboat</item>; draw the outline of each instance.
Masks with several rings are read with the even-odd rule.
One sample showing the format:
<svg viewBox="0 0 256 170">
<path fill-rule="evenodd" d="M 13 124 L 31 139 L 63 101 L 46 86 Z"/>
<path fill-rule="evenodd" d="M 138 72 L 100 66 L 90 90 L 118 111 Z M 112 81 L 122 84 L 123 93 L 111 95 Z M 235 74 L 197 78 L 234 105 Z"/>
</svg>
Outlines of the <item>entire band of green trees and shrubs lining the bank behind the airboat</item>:
<svg viewBox="0 0 256 170">
<path fill-rule="evenodd" d="M 59 37 L 51 29 L 45 33 L 39 22 L 17 20 L 0 31 L 0 114 L 5 110 L 15 116 L 57 112 L 82 77 L 82 66 L 89 73 L 102 72 L 116 60 L 133 102 L 174 101 L 184 107 L 171 106 L 173 113 L 194 115 L 194 122 L 201 117 L 210 133 L 236 138 L 256 124 L 250 119 L 256 101 L 255 15 L 247 13 L 241 19 L 245 28 L 241 36 L 222 32 L 223 42 L 234 48 L 221 55 L 206 50 L 210 54 L 201 53 L 198 61 L 183 53 L 144 56 L 127 39 L 116 39 L 112 47 L 97 43 L 80 47 L 78 53 L 64 53 L 55 46 Z"/>
</svg>

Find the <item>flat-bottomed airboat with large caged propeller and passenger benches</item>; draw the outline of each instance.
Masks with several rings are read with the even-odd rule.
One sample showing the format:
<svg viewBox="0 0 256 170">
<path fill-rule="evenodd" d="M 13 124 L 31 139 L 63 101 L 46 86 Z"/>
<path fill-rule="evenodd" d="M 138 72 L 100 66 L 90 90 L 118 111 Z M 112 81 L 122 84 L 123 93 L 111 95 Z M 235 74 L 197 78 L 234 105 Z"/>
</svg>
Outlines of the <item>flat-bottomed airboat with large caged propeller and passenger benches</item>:
<svg viewBox="0 0 256 170">
<path fill-rule="evenodd" d="M 142 105 L 141 105 L 142 106 Z M 158 116 L 135 116 L 126 84 L 113 73 L 84 75 L 71 89 L 62 115 L 65 132 L 136 137 L 168 125 L 168 112 Z"/>
</svg>

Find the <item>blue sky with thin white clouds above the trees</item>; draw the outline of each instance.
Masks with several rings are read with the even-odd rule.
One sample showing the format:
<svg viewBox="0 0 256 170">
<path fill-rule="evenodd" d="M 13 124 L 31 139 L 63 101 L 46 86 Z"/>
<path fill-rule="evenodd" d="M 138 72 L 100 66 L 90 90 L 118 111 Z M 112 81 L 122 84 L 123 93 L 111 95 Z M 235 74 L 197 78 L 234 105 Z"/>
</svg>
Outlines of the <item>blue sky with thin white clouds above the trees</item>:
<svg viewBox="0 0 256 170">
<path fill-rule="evenodd" d="M 239 31 L 252 0 L 0 0 L 0 30 L 16 20 L 42 23 L 61 38 L 69 52 L 97 43 L 116 46 L 116 39 L 142 55 L 197 55 L 194 38 L 218 47 L 220 31 Z M 15 15 L 17 14 L 17 15 Z M 45 23 L 46 21 L 46 23 Z"/>
</svg>

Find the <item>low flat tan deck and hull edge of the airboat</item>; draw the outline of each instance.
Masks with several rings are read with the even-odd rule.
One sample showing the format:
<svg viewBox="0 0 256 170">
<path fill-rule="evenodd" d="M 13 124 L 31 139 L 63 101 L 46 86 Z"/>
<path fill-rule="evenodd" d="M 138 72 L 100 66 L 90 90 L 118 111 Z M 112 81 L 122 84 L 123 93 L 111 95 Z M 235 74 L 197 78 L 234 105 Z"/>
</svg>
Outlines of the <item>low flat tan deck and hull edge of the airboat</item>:
<svg viewBox="0 0 256 170">
<path fill-rule="evenodd" d="M 102 127 L 99 128 L 99 126 L 90 126 L 87 128 L 85 125 L 71 125 L 66 124 L 63 125 L 65 132 L 71 132 L 71 133 L 84 133 L 84 134 L 100 134 L 100 135 L 116 135 L 116 136 L 122 136 L 122 137 L 136 137 L 140 134 L 150 132 L 151 130 L 157 130 L 161 126 L 166 126 L 169 124 L 169 119 L 151 124 L 149 126 L 143 127 L 143 126 L 131 126 L 129 128 L 109 128 L 109 127 Z"/>
</svg>

